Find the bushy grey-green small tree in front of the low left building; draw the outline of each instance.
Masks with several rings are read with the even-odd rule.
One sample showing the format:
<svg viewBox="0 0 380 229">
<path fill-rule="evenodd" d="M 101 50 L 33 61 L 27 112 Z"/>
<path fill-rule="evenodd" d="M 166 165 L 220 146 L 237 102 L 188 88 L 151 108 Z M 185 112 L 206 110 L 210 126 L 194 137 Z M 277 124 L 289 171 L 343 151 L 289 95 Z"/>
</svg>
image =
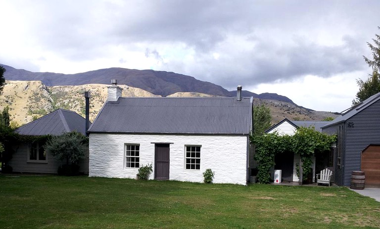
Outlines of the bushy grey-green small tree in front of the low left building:
<svg viewBox="0 0 380 229">
<path fill-rule="evenodd" d="M 44 148 L 66 164 L 58 169 L 58 174 L 73 175 L 79 170 L 78 162 L 84 158 L 88 147 L 88 138 L 78 132 L 69 132 L 61 136 L 50 138 Z"/>
</svg>

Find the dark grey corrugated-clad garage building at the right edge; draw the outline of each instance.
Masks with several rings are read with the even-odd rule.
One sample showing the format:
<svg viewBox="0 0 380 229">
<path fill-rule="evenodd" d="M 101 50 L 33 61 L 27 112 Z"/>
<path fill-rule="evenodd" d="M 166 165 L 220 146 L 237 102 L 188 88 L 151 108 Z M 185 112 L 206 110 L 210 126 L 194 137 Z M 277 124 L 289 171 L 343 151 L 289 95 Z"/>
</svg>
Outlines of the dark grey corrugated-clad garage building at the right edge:
<svg viewBox="0 0 380 229">
<path fill-rule="evenodd" d="M 352 171 L 363 170 L 362 153 L 371 145 L 380 144 L 380 93 L 349 108 L 322 132 L 336 135 L 334 157 L 334 179 L 338 185 L 349 186 Z M 380 161 L 380 152 L 375 152 L 373 161 Z M 375 165 L 378 169 L 380 164 Z M 380 183 L 380 176 L 374 177 Z M 367 181 L 366 181 L 367 182 Z"/>
</svg>

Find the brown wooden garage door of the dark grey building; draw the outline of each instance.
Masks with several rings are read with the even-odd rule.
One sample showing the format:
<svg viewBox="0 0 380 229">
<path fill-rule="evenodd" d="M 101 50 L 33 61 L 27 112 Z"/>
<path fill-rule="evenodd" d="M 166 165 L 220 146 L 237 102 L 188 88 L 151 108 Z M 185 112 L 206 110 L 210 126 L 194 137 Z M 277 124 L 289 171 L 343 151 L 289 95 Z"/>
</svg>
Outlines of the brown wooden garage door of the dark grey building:
<svg viewBox="0 0 380 229">
<path fill-rule="evenodd" d="M 380 187 L 380 145 L 370 145 L 363 151 L 361 170 L 366 187 Z"/>
</svg>

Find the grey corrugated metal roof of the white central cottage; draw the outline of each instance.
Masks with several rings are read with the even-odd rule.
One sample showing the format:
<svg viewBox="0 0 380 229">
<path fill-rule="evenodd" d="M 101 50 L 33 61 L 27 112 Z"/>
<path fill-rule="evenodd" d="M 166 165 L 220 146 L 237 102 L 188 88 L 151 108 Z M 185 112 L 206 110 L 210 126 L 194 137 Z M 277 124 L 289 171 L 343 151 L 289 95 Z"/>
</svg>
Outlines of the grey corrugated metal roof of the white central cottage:
<svg viewBox="0 0 380 229">
<path fill-rule="evenodd" d="M 249 134 L 252 98 L 120 97 L 107 101 L 89 132 Z"/>
</svg>

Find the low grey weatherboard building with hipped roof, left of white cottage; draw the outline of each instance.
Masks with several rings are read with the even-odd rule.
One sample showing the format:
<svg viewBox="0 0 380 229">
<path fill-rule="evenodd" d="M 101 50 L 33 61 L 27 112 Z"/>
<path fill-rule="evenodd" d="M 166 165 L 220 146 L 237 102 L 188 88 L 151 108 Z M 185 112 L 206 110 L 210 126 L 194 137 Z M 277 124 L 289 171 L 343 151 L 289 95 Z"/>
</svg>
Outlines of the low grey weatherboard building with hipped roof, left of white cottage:
<svg viewBox="0 0 380 229">
<path fill-rule="evenodd" d="M 86 119 L 74 111 L 64 109 L 57 109 L 15 130 L 16 133 L 24 136 L 59 136 L 72 131 L 86 135 Z M 44 144 L 45 141 L 33 141 L 14 145 L 14 153 L 8 162 L 13 172 L 57 173 L 58 167 L 65 162 L 47 154 L 43 148 Z M 80 172 L 89 173 L 88 151 L 80 162 Z"/>
</svg>

